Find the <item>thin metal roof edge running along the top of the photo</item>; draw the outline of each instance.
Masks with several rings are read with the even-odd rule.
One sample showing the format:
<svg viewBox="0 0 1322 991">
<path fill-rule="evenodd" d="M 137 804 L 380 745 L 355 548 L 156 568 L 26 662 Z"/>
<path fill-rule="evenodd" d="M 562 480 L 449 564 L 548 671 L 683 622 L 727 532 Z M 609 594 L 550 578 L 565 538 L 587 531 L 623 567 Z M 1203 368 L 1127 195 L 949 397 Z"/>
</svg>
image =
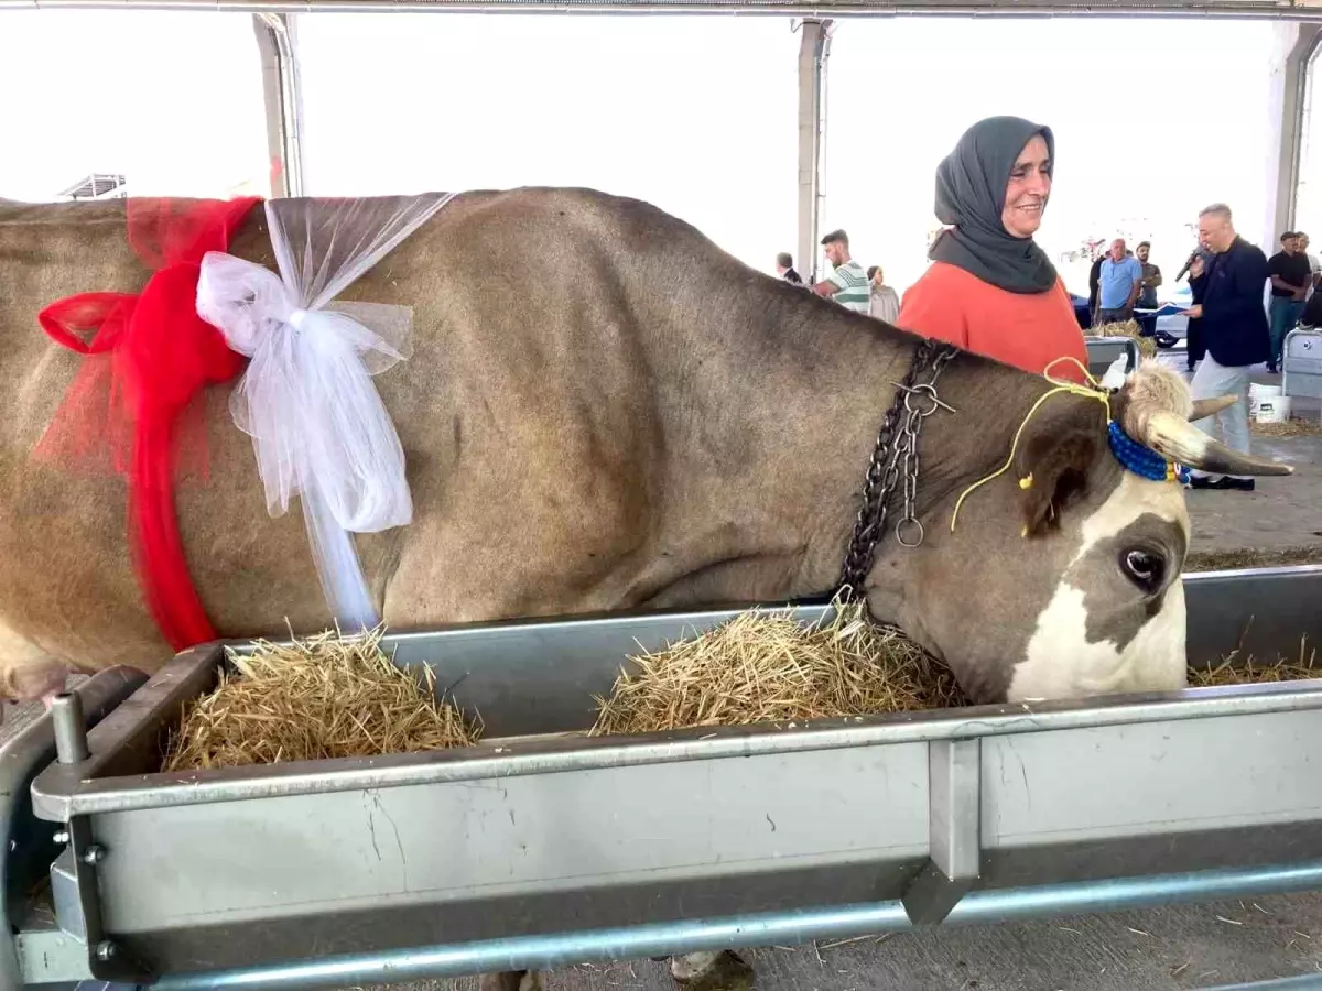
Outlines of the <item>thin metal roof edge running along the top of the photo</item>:
<svg viewBox="0 0 1322 991">
<path fill-rule="evenodd" d="M 0 11 L 772 15 L 781 17 L 1227 17 L 1322 21 L 1322 0 L 0 0 Z"/>
</svg>

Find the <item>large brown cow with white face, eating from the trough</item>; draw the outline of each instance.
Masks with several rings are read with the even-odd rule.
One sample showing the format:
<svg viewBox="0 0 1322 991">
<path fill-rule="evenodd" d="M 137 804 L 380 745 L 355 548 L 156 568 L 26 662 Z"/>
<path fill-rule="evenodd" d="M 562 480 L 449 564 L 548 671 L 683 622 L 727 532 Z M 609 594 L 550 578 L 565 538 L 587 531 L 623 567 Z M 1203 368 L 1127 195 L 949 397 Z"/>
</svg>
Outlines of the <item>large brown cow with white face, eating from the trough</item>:
<svg viewBox="0 0 1322 991">
<path fill-rule="evenodd" d="M 271 266 L 260 211 L 233 252 Z M 0 206 L 0 677 L 32 698 L 66 667 L 169 655 L 126 546 L 124 484 L 33 462 L 79 358 L 37 328 L 48 303 L 136 292 L 123 202 Z M 697 230 L 584 190 L 457 197 L 345 293 L 414 308 L 415 351 L 377 379 L 407 453 L 411 526 L 357 538 L 395 629 L 625 606 L 765 603 L 833 588 L 878 425 L 917 338 L 760 275 Z M 1188 464 L 1280 474 L 1185 420 L 1150 373 L 1117 412 Z M 1177 485 L 1112 457 L 1103 406 L 1058 395 L 995 470 L 1036 375 L 969 354 L 924 422 L 916 514 L 887 535 L 871 610 L 943 657 L 980 700 L 1185 683 Z M 212 477 L 178 493 L 222 636 L 329 622 L 296 514 L 268 518 L 249 439 L 212 390 Z M 1124 407 L 1121 410 L 1121 407 Z M 1023 488 L 1021 478 L 1032 478 Z"/>
</svg>

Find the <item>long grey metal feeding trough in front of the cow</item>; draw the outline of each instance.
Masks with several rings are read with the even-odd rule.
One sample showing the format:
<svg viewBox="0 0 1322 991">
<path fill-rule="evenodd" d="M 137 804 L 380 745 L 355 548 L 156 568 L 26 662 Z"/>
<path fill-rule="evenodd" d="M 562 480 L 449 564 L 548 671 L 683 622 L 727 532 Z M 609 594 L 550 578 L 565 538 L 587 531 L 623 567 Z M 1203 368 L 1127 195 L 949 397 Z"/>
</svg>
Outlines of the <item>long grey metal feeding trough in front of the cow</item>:
<svg viewBox="0 0 1322 991">
<path fill-rule="evenodd" d="M 1322 636 L 1322 568 L 1186 588 L 1195 662 Z M 160 774 L 221 647 L 98 675 L 0 751 L 0 987 L 344 987 L 1322 888 L 1322 680 L 579 735 L 627 654 L 732 614 L 389 637 L 483 714 L 448 753 Z"/>
</svg>

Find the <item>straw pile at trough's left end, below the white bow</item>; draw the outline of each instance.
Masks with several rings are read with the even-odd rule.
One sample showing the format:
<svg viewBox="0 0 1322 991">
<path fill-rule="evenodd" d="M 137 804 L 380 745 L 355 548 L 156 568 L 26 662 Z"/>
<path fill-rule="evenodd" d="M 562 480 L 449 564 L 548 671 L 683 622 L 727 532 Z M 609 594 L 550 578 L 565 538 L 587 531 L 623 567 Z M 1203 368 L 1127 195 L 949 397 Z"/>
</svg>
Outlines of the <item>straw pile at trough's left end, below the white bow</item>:
<svg viewBox="0 0 1322 991">
<path fill-rule="evenodd" d="M 477 743 L 481 727 L 381 650 L 382 628 L 330 630 L 280 646 L 258 641 L 234 671 L 190 702 L 167 748 L 165 770 L 440 751 Z"/>
</svg>

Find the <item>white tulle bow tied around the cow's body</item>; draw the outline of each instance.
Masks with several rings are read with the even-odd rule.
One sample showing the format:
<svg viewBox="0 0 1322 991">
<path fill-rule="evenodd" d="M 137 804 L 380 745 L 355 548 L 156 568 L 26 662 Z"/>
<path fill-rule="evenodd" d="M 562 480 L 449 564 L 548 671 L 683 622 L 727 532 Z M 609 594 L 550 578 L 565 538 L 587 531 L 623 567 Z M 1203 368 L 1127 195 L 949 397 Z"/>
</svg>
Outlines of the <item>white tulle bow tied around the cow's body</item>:
<svg viewBox="0 0 1322 991">
<path fill-rule="evenodd" d="M 378 621 L 349 532 L 412 519 L 403 448 L 371 382 L 410 355 L 411 311 L 330 301 L 448 200 L 270 201 L 279 276 L 233 255 L 202 259 L 198 316 L 251 359 L 230 396 L 234 423 L 253 437 L 270 514 L 301 498 L 341 628 Z"/>
</svg>

